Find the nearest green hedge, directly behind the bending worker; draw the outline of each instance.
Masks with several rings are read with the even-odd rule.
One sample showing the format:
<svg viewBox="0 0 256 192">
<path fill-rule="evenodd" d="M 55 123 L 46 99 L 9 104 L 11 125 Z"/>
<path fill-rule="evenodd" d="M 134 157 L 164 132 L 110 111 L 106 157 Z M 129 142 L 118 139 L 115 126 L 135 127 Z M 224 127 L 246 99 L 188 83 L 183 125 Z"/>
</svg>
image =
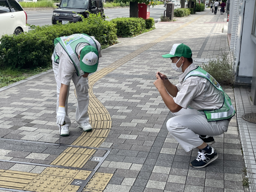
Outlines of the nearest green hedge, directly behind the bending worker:
<svg viewBox="0 0 256 192">
<path fill-rule="evenodd" d="M 50 65 L 54 49 L 53 40 L 62 36 L 85 33 L 94 36 L 102 45 L 117 42 L 115 24 L 104 21 L 100 15 L 94 14 L 90 14 L 89 18 L 82 22 L 32 28 L 35 30 L 26 34 L 4 35 L 0 39 L 2 67 L 28 69 Z"/>
</svg>

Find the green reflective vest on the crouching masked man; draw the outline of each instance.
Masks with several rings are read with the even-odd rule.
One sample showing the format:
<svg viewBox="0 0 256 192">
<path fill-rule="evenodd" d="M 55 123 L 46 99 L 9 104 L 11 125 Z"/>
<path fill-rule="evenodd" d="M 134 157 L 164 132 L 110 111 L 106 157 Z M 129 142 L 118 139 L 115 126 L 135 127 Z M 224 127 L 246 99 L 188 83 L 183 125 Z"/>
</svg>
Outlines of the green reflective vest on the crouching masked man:
<svg viewBox="0 0 256 192">
<path fill-rule="evenodd" d="M 205 116 L 208 122 L 230 119 L 235 115 L 236 111 L 233 108 L 230 97 L 227 95 L 227 93 L 225 93 L 222 90 L 220 84 L 218 84 L 218 82 L 209 73 L 207 73 L 201 67 L 197 67 L 195 70 L 190 71 L 186 75 L 186 77 L 184 78 L 184 81 L 186 81 L 186 79 L 189 78 L 190 76 L 198 76 L 198 77 L 203 77 L 207 79 L 214 85 L 216 89 L 218 89 L 223 93 L 224 101 L 221 108 L 215 109 L 215 110 L 202 110 L 205 113 Z"/>
</svg>

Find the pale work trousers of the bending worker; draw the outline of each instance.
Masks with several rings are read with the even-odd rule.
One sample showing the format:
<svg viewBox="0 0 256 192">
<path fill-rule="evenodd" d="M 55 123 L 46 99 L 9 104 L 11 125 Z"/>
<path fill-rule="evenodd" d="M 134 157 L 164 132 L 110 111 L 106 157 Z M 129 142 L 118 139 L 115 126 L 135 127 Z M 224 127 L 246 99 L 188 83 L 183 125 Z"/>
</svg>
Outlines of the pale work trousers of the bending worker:
<svg viewBox="0 0 256 192">
<path fill-rule="evenodd" d="M 59 95 L 60 95 L 60 88 L 61 88 L 61 83 L 57 81 L 56 76 L 58 73 L 58 64 L 55 62 L 52 62 L 52 69 L 54 71 L 54 76 L 55 80 L 57 83 L 57 105 L 56 105 L 56 112 L 58 112 L 58 107 L 59 107 Z M 76 96 L 77 96 L 77 106 L 76 106 L 76 122 L 78 124 L 82 124 L 84 122 L 89 122 L 89 115 L 88 115 L 88 105 L 89 105 L 89 92 L 87 93 L 82 93 L 80 92 L 81 86 L 77 87 L 77 83 L 79 79 L 82 76 L 77 76 L 76 73 L 73 73 L 72 76 L 72 81 L 75 84 L 76 87 Z M 65 111 L 66 111 L 66 117 L 65 117 L 65 122 L 67 126 L 71 125 L 70 117 L 68 116 L 67 113 L 67 101 L 68 101 L 68 96 L 69 96 L 69 90 L 70 86 L 68 86 L 67 90 L 67 98 L 65 101 Z"/>
</svg>

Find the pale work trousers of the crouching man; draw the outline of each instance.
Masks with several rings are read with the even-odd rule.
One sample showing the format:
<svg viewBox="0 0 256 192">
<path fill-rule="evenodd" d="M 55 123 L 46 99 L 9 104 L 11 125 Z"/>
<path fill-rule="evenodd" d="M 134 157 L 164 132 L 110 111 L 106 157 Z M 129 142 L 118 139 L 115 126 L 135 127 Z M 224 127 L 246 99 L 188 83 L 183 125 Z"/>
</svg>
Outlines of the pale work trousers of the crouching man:
<svg viewBox="0 0 256 192">
<path fill-rule="evenodd" d="M 175 117 L 167 121 L 166 127 L 186 152 L 203 144 L 198 135 L 214 136 L 227 132 L 228 120 L 207 122 L 203 112 L 189 108 L 173 114 Z"/>
</svg>

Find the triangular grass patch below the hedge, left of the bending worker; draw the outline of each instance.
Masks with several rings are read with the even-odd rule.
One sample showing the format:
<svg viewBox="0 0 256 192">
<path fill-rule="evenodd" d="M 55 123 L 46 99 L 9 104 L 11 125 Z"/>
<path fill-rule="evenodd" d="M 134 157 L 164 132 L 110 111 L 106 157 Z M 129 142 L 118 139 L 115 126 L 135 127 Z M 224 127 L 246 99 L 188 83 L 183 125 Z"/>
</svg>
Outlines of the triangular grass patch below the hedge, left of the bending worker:
<svg viewBox="0 0 256 192">
<path fill-rule="evenodd" d="M 26 69 L 11 69 L 11 68 L 6 68 L 6 69 L 1 69 L 0 70 L 0 88 L 5 87 L 9 84 L 15 83 L 17 81 L 21 81 L 23 79 L 26 79 L 30 76 L 36 75 L 38 73 L 42 73 L 44 71 L 47 71 L 49 69 L 52 69 L 51 67 L 46 67 L 46 68 L 41 68 L 38 67 L 33 70 L 26 70 Z"/>
</svg>

